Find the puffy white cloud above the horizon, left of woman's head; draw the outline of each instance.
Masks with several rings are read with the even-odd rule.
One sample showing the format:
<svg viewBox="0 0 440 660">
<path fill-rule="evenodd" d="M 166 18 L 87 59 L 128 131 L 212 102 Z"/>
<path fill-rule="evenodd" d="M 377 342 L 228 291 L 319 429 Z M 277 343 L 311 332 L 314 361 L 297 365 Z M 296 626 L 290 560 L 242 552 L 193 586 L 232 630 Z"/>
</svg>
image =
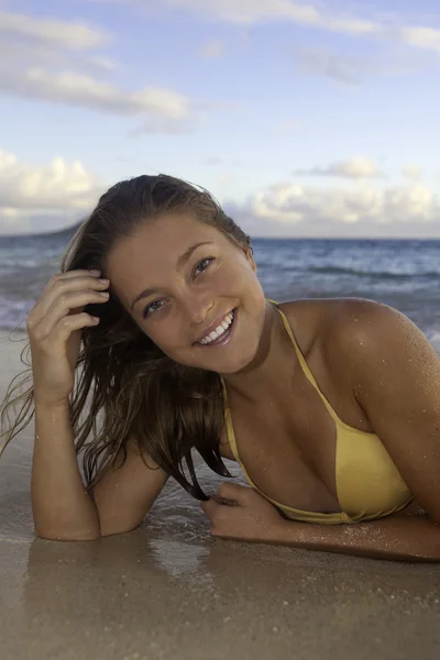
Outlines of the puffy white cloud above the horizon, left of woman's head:
<svg viewBox="0 0 440 660">
<path fill-rule="evenodd" d="M 33 219 L 45 218 L 40 229 L 59 229 L 59 217 L 82 217 L 98 201 L 103 186 L 80 161 L 55 157 L 48 164 L 20 162 L 0 150 L 0 233 L 30 231 Z"/>
</svg>

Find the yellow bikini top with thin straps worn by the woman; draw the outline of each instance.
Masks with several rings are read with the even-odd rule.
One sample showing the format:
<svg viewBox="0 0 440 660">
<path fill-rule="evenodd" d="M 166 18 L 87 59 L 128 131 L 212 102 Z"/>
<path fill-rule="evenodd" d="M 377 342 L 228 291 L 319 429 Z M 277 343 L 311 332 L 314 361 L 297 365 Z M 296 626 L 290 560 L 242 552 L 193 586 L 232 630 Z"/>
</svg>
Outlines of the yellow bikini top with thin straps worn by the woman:
<svg viewBox="0 0 440 660">
<path fill-rule="evenodd" d="M 337 426 L 337 457 L 336 476 L 338 502 L 341 513 L 321 514 L 317 512 L 305 512 L 280 504 L 265 495 L 253 483 L 237 449 L 235 435 L 232 425 L 231 410 L 228 404 L 228 393 L 221 378 L 224 396 L 224 416 L 228 438 L 235 457 L 250 485 L 263 497 L 272 502 L 280 512 L 293 520 L 305 522 L 318 522 L 324 525 L 338 525 L 341 522 L 360 522 L 372 520 L 394 514 L 409 504 L 413 496 L 404 483 L 396 465 L 393 463 L 388 452 L 385 450 L 380 438 L 375 433 L 367 433 L 350 427 L 334 413 L 327 398 L 319 389 L 312 373 L 302 356 L 295 340 L 286 315 L 277 307 L 275 300 L 267 298 L 279 311 L 284 327 L 286 328 L 295 346 L 299 364 L 315 389 L 321 397 L 326 408 L 330 413 Z"/>
</svg>

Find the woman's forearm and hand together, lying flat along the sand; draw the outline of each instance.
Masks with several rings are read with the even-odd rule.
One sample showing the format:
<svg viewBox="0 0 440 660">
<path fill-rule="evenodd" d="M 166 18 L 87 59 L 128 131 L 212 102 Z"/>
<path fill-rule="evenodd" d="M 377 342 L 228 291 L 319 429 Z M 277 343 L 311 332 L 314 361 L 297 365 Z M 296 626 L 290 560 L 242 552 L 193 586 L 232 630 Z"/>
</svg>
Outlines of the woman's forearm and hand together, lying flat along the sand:
<svg viewBox="0 0 440 660">
<path fill-rule="evenodd" d="M 420 515 L 421 509 L 414 513 L 414 505 L 367 522 L 314 525 L 287 520 L 253 488 L 222 482 L 200 506 L 210 518 L 213 537 L 375 559 L 440 562 L 440 526 Z"/>
</svg>

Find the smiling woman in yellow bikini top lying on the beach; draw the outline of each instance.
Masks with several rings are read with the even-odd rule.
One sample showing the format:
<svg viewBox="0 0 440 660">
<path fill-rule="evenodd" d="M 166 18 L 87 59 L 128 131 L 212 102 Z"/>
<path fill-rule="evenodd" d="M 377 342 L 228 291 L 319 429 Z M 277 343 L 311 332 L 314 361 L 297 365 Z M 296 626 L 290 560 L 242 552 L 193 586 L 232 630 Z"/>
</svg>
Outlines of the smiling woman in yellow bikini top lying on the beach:
<svg viewBox="0 0 440 660">
<path fill-rule="evenodd" d="M 250 238 L 206 190 L 110 188 L 26 327 L 38 536 L 132 530 L 172 475 L 215 537 L 440 560 L 439 355 L 372 300 L 266 299 Z M 252 487 L 207 496 L 191 448 L 223 476 L 237 460 Z"/>
</svg>

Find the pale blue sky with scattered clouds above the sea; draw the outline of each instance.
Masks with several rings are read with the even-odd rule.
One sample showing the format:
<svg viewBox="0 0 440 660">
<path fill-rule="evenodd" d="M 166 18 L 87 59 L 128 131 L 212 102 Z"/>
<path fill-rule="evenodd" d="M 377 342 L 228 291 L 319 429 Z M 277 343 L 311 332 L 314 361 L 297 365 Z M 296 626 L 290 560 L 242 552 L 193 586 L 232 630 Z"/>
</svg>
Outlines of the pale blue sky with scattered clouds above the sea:
<svg viewBox="0 0 440 660">
<path fill-rule="evenodd" d="M 251 238 L 440 239 L 438 0 L 0 0 L 0 234 L 118 180 Z"/>
</svg>

